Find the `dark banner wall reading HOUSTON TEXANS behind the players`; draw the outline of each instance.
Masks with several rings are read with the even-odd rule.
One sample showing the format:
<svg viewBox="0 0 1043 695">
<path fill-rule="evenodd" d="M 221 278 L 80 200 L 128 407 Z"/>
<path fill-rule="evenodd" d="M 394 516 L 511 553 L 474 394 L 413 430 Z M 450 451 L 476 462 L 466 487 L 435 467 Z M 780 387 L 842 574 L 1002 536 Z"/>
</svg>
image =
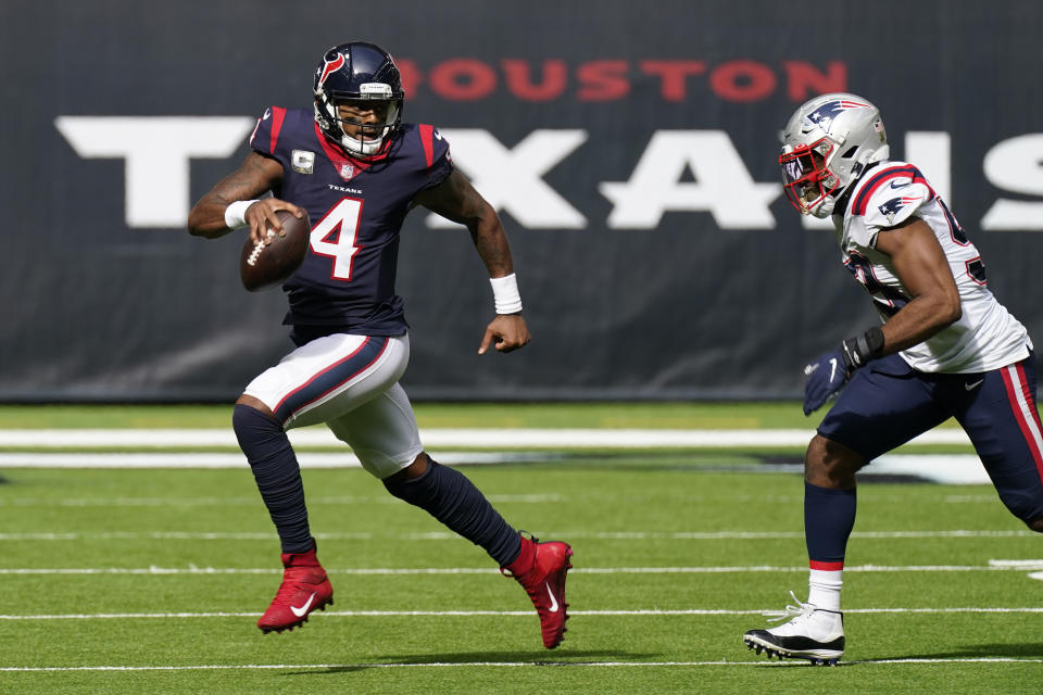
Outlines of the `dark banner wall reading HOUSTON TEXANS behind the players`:
<svg viewBox="0 0 1043 695">
<path fill-rule="evenodd" d="M 779 181 L 778 131 L 833 90 L 881 108 L 1043 340 L 1043 5 L 816 8 L 5 2 L 0 400 L 227 400 L 290 349 L 281 294 L 239 286 L 242 233 L 185 218 L 352 39 L 397 56 L 405 118 L 500 211 L 535 337 L 477 354 L 481 263 L 414 211 L 416 399 L 796 397 L 806 358 L 876 320 Z"/>
</svg>

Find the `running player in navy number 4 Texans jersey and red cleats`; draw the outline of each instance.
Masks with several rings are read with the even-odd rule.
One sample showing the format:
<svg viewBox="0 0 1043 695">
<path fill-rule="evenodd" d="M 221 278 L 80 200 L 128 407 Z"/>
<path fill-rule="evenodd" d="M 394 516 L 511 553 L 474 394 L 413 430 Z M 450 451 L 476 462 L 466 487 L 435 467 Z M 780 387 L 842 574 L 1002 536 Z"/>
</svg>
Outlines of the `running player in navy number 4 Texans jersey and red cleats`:
<svg viewBox="0 0 1043 695">
<path fill-rule="evenodd" d="M 394 496 L 485 548 L 529 594 L 543 644 L 565 632 L 568 544 L 540 543 L 504 521 L 461 472 L 420 444 L 399 379 L 410 355 L 395 294 L 399 233 L 423 205 L 463 224 L 489 271 L 495 317 L 478 352 L 529 342 L 511 249 L 499 216 L 457 172 L 432 126 L 402 123 L 404 92 L 391 56 L 373 43 L 329 49 L 313 83 L 312 109 L 266 109 L 252 152 L 192 207 L 192 235 L 249 226 L 254 243 L 276 216 L 309 215 L 310 248 L 284 285 L 285 324 L 297 349 L 247 386 L 233 425 L 281 542 L 282 583 L 257 627 L 292 629 L 332 603 L 316 557 L 300 468 L 286 431 L 326 424 Z M 264 197 L 271 192 L 271 197 Z"/>
</svg>

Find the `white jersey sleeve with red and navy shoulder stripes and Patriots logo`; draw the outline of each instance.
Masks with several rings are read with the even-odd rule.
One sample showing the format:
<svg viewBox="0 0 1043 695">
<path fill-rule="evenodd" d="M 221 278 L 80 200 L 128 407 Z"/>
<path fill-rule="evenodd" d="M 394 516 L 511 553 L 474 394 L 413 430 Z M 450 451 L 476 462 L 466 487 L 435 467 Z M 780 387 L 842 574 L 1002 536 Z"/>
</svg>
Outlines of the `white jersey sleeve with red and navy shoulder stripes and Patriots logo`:
<svg viewBox="0 0 1043 695">
<path fill-rule="evenodd" d="M 877 233 L 896 227 L 937 198 L 931 185 L 913 165 L 889 168 L 874 176 L 855 197 L 854 213 L 862 218 L 856 243 L 876 247 Z"/>
</svg>

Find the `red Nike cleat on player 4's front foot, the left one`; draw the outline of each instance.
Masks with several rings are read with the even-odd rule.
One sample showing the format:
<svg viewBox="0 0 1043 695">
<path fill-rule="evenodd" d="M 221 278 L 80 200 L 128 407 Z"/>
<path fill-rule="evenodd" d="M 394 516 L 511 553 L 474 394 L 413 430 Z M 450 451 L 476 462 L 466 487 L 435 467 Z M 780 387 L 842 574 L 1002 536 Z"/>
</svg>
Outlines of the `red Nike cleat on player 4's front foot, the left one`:
<svg viewBox="0 0 1043 695">
<path fill-rule="evenodd" d="M 314 546 L 307 553 L 284 553 L 282 567 L 282 584 L 257 620 L 265 634 L 300 627 L 307 622 L 310 612 L 326 610 L 334 603 L 334 586 L 318 564 Z"/>
</svg>

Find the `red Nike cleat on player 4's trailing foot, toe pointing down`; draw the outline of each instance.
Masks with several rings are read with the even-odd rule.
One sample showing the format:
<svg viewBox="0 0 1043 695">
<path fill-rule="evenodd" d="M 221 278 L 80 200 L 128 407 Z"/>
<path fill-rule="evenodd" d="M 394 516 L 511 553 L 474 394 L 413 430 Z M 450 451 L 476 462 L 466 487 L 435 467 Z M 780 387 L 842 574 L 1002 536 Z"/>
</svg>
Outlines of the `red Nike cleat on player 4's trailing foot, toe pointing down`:
<svg viewBox="0 0 1043 695">
<path fill-rule="evenodd" d="M 543 631 L 543 646 L 553 649 L 562 643 L 565 635 L 565 621 L 568 620 L 568 604 L 565 603 L 565 576 L 573 564 L 568 560 L 573 548 L 568 543 L 522 536 L 522 552 L 518 558 L 500 571 L 514 577 L 536 606 Z"/>
</svg>

